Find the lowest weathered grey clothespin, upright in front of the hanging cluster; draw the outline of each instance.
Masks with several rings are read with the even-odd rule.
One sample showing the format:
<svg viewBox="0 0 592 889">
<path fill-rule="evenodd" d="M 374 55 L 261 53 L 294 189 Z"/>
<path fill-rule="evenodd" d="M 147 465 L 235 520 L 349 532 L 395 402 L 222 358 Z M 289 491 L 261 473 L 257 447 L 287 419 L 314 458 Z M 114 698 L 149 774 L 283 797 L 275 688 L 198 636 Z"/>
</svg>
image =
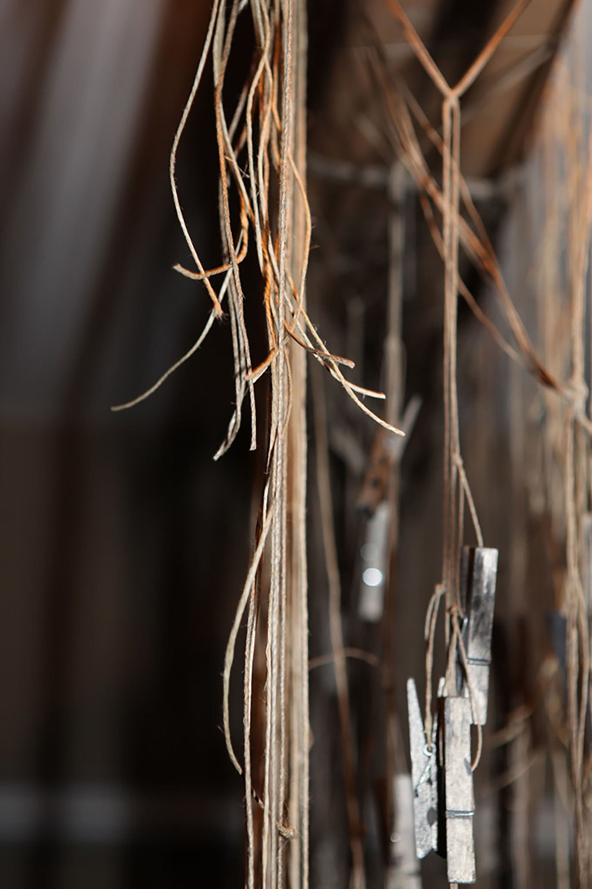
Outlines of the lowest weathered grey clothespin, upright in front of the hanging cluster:
<svg viewBox="0 0 592 889">
<path fill-rule="evenodd" d="M 446 861 L 448 883 L 475 883 L 473 773 L 470 763 L 471 707 L 468 698 L 444 701 Z"/>
</svg>

